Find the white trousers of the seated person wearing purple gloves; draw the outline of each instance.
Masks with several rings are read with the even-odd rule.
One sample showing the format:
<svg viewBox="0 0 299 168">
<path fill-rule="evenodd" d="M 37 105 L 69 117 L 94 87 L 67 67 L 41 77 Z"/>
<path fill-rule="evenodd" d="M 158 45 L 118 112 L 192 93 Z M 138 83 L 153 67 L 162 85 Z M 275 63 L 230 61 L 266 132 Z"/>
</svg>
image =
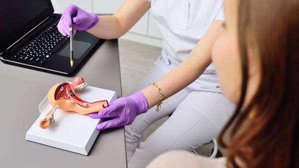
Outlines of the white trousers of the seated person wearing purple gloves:
<svg viewBox="0 0 299 168">
<path fill-rule="evenodd" d="M 153 66 L 145 78 L 127 95 L 156 82 L 165 73 Z M 150 161 L 170 150 L 191 151 L 216 138 L 232 115 L 235 105 L 222 93 L 191 90 L 188 87 L 163 101 L 125 126 L 128 168 L 145 168 Z M 143 132 L 157 120 L 172 114 L 149 138 Z"/>
</svg>

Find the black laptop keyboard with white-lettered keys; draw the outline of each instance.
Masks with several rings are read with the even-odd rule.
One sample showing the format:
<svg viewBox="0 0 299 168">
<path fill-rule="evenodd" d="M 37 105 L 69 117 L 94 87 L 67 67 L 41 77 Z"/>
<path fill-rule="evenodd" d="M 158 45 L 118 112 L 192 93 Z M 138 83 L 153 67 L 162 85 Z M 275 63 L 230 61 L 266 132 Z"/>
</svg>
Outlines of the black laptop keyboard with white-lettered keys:
<svg viewBox="0 0 299 168">
<path fill-rule="evenodd" d="M 24 48 L 16 53 L 13 58 L 19 61 L 23 60 L 22 62 L 28 61 L 44 64 L 61 45 L 69 40 L 69 36 L 65 37 L 58 31 L 58 22 L 59 20 L 48 27 L 34 40 L 30 41 Z"/>
</svg>

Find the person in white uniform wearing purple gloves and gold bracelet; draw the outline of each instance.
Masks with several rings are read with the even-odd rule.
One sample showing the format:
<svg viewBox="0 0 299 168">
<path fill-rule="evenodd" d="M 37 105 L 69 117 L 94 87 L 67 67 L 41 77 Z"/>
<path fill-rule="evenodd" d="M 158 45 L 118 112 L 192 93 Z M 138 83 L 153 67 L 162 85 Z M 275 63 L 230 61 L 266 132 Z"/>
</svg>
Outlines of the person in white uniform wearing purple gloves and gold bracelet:
<svg viewBox="0 0 299 168">
<path fill-rule="evenodd" d="M 233 114 L 235 106 L 223 95 L 215 66 L 211 64 L 211 50 L 225 18 L 223 0 L 124 1 L 113 15 L 98 16 L 97 23 L 87 19 L 90 13 L 77 6 L 69 6 L 60 20 L 66 27 L 61 33 L 68 34 L 73 16 L 75 29 L 78 29 L 78 24 L 84 24 L 90 28 L 87 31 L 96 37 L 108 40 L 120 38 L 143 16 L 147 17 L 150 9 L 163 46 L 150 71 L 128 95 L 137 91 L 142 93 L 117 99 L 110 107 L 90 114 L 91 118 L 116 117 L 99 124 L 98 130 L 127 125 L 128 167 L 145 168 L 163 152 L 191 151 L 216 138 Z M 80 23 L 76 17 L 80 17 Z M 151 82 L 156 86 L 149 86 Z M 141 114 L 145 112 L 147 114 Z M 166 120 L 144 142 L 145 130 L 170 114 L 173 114 L 170 120 Z"/>
</svg>

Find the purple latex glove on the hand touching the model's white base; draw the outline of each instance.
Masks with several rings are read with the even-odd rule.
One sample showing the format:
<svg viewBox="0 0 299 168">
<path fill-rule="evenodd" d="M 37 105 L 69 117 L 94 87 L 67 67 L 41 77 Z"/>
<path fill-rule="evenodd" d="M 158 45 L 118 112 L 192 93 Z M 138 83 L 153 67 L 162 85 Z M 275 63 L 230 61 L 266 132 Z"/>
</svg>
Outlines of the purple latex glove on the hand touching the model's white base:
<svg viewBox="0 0 299 168">
<path fill-rule="evenodd" d="M 97 129 L 116 128 L 132 124 L 136 116 L 148 111 L 148 107 L 145 95 L 139 91 L 132 96 L 116 99 L 100 112 L 89 114 L 89 117 L 93 119 L 116 117 L 113 120 L 97 125 Z"/>
</svg>

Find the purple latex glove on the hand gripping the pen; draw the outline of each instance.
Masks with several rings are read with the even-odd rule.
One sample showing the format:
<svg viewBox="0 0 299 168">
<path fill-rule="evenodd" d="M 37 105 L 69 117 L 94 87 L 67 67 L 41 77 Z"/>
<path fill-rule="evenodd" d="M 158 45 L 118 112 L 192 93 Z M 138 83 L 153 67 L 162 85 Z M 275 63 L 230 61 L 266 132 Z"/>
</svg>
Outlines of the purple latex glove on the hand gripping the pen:
<svg viewBox="0 0 299 168">
<path fill-rule="evenodd" d="M 88 13 L 74 4 L 70 4 L 62 13 L 57 25 L 59 32 L 64 35 L 70 35 L 70 27 L 73 18 L 73 28 L 75 30 L 89 30 L 99 22 L 96 13 Z M 74 35 L 76 31 L 74 31 Z"/>
</svg>

